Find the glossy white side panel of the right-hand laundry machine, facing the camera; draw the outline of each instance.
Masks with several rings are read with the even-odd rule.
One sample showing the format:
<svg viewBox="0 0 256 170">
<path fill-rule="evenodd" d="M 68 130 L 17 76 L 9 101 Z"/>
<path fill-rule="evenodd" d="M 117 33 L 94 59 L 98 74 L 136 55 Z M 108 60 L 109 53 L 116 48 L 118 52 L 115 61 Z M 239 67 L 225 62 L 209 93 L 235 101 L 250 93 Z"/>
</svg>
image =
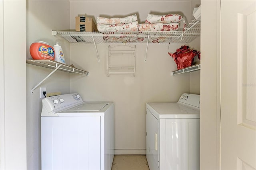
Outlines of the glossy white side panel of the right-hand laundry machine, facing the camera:
<svg viewBox="0 0 256 170">
<path fill-rule="evenodd" d="M 200 119 L 166 119 L 166 170 L 200 169 Z"/>
</svg>

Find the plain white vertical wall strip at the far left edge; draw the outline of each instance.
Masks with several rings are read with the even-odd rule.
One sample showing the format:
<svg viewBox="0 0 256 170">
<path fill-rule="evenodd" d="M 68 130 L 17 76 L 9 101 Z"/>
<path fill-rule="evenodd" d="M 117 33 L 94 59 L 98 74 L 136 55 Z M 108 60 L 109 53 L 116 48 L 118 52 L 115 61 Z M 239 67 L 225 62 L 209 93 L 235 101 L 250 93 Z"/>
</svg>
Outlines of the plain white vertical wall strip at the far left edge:
<svg viewBox="0 0 256 170">
<path fill-rule="evenodd" d="M 25 0 L 0 0 L 0 169 L 6 170 L 26 170 L 25 8 Z"/>
</svg>

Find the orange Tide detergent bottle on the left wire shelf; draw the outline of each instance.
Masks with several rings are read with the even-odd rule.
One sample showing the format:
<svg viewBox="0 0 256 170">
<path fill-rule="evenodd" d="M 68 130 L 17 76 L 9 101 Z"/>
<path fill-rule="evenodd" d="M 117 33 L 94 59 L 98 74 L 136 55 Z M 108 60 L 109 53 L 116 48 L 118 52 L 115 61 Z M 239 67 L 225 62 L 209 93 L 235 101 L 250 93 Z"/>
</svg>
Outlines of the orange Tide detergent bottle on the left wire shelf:
<svg viewBox="0 0 256 170">
<path fill-rule="evenodd" d="M 29 51 L 34 60 L 54 60 L 55 57 L 54 48 L 43 41 L 32 43 Z"/>
</svg>

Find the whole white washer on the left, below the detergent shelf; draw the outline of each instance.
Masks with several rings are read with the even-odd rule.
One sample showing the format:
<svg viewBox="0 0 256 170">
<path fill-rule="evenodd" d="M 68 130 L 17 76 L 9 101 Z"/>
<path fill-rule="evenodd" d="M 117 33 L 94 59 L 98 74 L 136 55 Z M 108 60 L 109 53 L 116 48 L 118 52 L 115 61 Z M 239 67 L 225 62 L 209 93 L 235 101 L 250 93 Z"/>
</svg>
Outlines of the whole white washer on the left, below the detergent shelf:
<svg viewBox="0 0 256 170">
<path fill-rule="evenodd" d="M 84 102 L 79 94 L 42 100 L 42 170 L 111 170 L 114 103 Z"/>
</svg>

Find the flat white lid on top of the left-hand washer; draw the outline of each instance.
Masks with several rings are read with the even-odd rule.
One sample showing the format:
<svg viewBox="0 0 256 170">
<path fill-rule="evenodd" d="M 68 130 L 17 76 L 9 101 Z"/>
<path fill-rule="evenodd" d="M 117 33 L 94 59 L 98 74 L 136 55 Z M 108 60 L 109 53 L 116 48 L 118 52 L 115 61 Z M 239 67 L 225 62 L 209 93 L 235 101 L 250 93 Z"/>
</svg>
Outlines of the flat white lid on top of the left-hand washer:
<svg viewBox="0 0 256 170">
<path fill-rule="evenodd" d="M 102 108 L 107 106 L 108 103 L 86 103 L 80 104 L 73 108 L 65 110 L 65 112 L 89 112 L 89 111 L 100 111 Z"/>
</svg>

